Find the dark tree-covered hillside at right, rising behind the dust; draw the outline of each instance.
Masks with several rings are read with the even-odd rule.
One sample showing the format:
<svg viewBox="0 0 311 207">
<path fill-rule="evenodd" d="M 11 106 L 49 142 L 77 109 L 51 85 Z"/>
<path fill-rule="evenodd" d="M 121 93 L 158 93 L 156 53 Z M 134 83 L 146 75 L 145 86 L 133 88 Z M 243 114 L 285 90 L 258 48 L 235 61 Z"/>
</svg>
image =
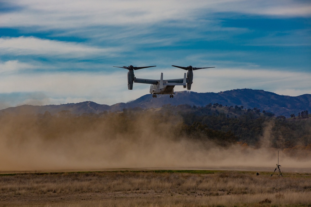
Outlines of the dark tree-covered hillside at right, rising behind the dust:
<svg viewBox="0 0 311 207">
<path fill-rule="evenodd" d="M 304 118 L 299 116 L 286 119 L 284 116 L 275 117 L 271 112 L 261 113 L 257 108 L 244 109 L 243 106 L 222 106 L 218 103 L 204 107 L 165 105 L 161 111 L 166 113 L 175 111 L 175 115 L 183 118 L 186 128 L 190 126 L 196 134 L 198 131 L 203 133 L 195 136 L 196 138 L 214 137 L 218 143 L 224 143 L 229 139 L 231 143 L 238 141 L 259 147 L 262 145 L 262 137 L 269 136 L 270 143 L 266 147 L 285 149 L 299 146 L 301 148 L 310 147 L 311 144 L 311 119 L 308 119 L 308 115 Z M 308 114 L 308 111 L 305 113 Z M 206 132 L 209 130 L 225 133 L 227 137 L 208 135 Z M 192 133 L 187 132 L 187 134 L 193 137 Z"/>
</svg>

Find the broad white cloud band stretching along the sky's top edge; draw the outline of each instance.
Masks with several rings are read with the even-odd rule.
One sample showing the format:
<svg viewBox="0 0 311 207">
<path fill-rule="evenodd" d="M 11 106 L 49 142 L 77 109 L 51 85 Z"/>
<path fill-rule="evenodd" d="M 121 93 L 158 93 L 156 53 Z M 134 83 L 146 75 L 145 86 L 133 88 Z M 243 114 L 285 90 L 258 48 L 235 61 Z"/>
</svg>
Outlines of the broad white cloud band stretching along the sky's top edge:
<svg viewBox="0 0 311 207">
<path fill-rule="evenodd" d="M 246 1 L 246 0 L 77 0 L 77 1 L 6 1 L 19 7 L 2 13 L 2 27 L 33 27 L 44 29 L 81 28 L 83 25 L 156 24 L 168 20 L 198 19 L 211 12 L 238 12 L 272 16 L 310 16 L 310 2 Z"/>
</svg>

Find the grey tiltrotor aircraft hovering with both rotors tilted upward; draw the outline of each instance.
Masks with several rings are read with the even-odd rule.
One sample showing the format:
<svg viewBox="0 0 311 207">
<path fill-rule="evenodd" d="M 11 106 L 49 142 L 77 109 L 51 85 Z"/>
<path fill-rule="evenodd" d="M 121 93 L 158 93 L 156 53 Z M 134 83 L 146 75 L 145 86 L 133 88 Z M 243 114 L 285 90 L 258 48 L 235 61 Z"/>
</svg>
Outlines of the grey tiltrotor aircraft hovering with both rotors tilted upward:
<svg viewBox="0 0 311 207">
<path fill-rule="evenodd" d="M 150 93 L 152 94 L 152 97 L 156 98 L 157 94 L 169 94 L 170 98 L 173 98 L 175 94 L 174 93 L 174 87 L 175 86 L 183 86 L 183 88 L 187 87 L 187 90 L 191 89 L 191 84 L 193 83 L 193 70 L 199 70 L 204 68 L 194 68 L 191 65 L 188 67 L 181 67 L 172 65 L 177 68 L 181 68 L 183 70 L 187 70 L 184 74 L 183 79 L 170 79 L 170 80 L 163 80 L 163 73 L 161 73 L 160 80 L 152 80 L 152 79 L 139 79 L 134 76 L 134 70 L 139 70 L 143 68 L 150 68 L 150 67 L 156 67 L 154 66 L 146 66 L 146 67 L 133 67 L 133 65 L 130 66 L 113 66 L 117 68 L 125 68 L 128 69 L 128 90 L 133 89 L 133 83 L 147 83 L 151 84 L 150 86 Z M 206 68 L 215 68 L 215 67 L 206 67 Z"/>
</svg>

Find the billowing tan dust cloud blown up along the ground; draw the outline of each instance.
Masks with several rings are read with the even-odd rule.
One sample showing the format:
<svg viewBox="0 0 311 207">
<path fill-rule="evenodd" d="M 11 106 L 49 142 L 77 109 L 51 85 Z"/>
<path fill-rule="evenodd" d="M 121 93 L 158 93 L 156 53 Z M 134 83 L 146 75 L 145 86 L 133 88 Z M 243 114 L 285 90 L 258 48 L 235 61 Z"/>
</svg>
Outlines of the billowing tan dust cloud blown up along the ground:
<svg viewBox="0 0 311 207">
<path fill-rule="evenodd" d="M 178 116 L 152 111 L 1 115 L 0 171 L 276 166 L 277 149 L 267 147 L 269 124 L 259 148 L 189 139 L 181 133 L 182 125 Z M 310 167 L 309 158 L 280 150 L 285 167 Z"/>
</svg>

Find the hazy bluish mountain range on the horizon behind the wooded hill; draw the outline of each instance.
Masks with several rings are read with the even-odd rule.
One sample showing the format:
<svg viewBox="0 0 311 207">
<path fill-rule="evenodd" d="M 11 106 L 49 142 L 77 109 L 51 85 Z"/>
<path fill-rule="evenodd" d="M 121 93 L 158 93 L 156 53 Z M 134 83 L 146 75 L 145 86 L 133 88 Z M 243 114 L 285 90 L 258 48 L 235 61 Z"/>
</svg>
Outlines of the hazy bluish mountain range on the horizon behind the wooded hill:
<svg viewBox="0 0 311 207">
<path fill-rule="evenodd" d="M 276 116 L 284 115 L 289 117 L 290 114 L 298 115 L 299 112 L 308 110 L 311 111 L 311 94 L 304 94 L 301 96 L 291 97 L 278 95 L 276 93 L 267 92 L 263 90 L 253 89 L 234 89 L 219 93 L 207 92 L 197 93 L 191 91 L 175 92 L 174 98 L 169 98 L 168 95 L 157 95 L 157 98 L 152 98 L 151 94 L 144 95 L 134 101 L 127 103 L 117 103 L 112 106 L 97 104 L 92 101 L 84 101 L 81 103 L 70 103 L 62 105 L 47 105 L 47 106 L 30 106 L 23 105 L 17 107 L 10 107 L 0 110 L 8 113 L 31 113 L 44 114 L 49 111 L 51 114 L 57 114 L 62 110 L 69 110 L 72 114 L 83 113 L 100 113 L 103 111 L 118 111 L 124 108 L 140 107 L 160 108 L 165 104 L 181 105 L 188 104 L 190 106 L 206 106 L 209 103 L 219 103 L 223 106 L 244 106 L 244 109 L 258 108 L 261 111 L 266 110 L 274 113 Z"/>
</svg>

